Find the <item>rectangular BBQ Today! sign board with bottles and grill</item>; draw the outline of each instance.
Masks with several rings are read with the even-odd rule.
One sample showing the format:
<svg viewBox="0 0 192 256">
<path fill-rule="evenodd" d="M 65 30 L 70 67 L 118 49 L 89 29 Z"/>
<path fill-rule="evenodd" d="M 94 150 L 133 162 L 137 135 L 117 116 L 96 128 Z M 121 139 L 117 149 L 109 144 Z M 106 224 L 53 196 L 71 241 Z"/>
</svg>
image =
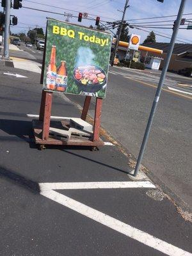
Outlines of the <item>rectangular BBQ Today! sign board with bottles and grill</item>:
<svg viewBox="0 0 192 256">
<path fill-rule="evenodd" d="M 48 19 L 43 89 L 106 97 L 111 35 Z"/>
</svg>

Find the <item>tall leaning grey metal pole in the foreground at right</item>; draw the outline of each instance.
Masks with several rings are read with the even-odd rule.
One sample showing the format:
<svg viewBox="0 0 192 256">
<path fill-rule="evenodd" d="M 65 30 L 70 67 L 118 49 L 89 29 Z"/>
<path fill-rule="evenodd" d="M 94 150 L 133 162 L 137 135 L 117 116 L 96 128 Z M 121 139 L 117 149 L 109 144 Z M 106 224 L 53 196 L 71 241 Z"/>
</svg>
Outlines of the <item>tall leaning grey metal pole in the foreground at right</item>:
<svg viewBox="0 0 192 256">
<path fill-rule="evenodd" d="M 176 40 L 176 37 L 177 37 L 177 33 L 179 31 L 180 21 L 182 19 L 182 13 L 184 11 L 184 4 L 185 3 L 186 3 L 186 0 L 181 0 L 179 13 L 177 15 L 177 20 L 176 20 L 176 24 L 175 24 L 175 28 L 173 29 L 172 39 L 170 41 L 170 47 L 168 49 L 168 54 L 166 56 L 166 60 L 164 61 L 163 71 L 161 72 L 161 77 L 159 79 L 159 84 L 157 86 L 156 96 L 155 96 L 154 102 L 152 104 L 152 109 L 150 111 L 150 116 L 148 118 L 147 127 L 146 127 L 146 130 L 145 130 L 145 134 L 144 134 L 143 141 L 142 141 L 141 148 L 140 148 L 140 154 L 138 156 L 138 161 L 136 163 L 136 167 L 135 167 L 135 170 L 134 170 L 134 177 L 138 174 L 138 172 L 140 170 L 140 164 L 141 164 L 141 161 L 143 159 L 145 146 L 146 146 L 147 141 L 148 141 L 148 135 L 149 135 L 150 128 L 151 128 L 151 125 L 152 125 L 154 114 L 156 112 L 157 104 L 158 104 L 159 97 L 160 97 L 160 94 L 161 94 L 161 90 L 162 90 L 162 87 L 163 87 L 164 78 L 166 76 L 166 71 L 168 70 L 168 65 L 169 65 L 170 59 L 172 57 L 173 47 L 175 45 L 175 40 Z"/>
</svg>

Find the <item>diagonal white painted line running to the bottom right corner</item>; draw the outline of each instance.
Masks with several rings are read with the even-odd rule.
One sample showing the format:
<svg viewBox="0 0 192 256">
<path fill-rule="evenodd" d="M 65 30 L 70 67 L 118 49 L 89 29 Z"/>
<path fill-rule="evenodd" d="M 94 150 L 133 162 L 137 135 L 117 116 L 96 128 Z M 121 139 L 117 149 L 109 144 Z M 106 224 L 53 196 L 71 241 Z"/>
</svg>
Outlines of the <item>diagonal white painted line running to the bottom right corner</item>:
<svg viewBox="0 0 192 256">
<path fill-rule="evenodd" d="M 105 225 L 106 227 L 112 228 L 113 230 L 116 230 L 117 232 L 120 232 L 121 234 L 124 234 L 125 236 L 130 237 L 131 239 L 135 239 L 136 241 L 146 244 L 147 246 L 150 246 L 151 248 L 154 248 L 159 252 L 163 252 L 166 255 L 192 255 L 189 252 L 186 252 L 176 246 L 173 246 L 172 244 L 166 243 L 161 239 L 158 239 L 150 234 L 147 234 L 146 232 L 139 230 L 138 228 L 131 227 L 130 225 L 122 221 L 116 220 L 115 218 L 108 216 L 107 214 L 97 211 L 87 205 L 81 204 L 80 202 L 77 202 L 76 200 L 68 196 L 62 195 L 56 191 L 45 190 L 41 191 L 40 194 L 57 202 L 58 204 L 64 205 L 69 209 L 79 212 L 80 214 L 83 214 L 84 216 L 92 220 L 95 220 L 101 223 L 102 225 Z"/>
</svg>

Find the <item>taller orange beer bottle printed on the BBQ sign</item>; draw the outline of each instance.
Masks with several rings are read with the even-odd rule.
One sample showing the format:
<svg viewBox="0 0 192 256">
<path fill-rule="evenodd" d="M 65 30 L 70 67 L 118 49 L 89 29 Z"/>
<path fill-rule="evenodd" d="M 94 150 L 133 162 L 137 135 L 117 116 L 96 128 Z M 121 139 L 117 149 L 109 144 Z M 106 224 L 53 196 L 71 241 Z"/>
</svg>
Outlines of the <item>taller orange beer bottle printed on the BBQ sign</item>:
<svg viewBox="0 0 192 256">
<path fill-rule="evenodd" d="M 46 77 L 46 89 L 55 90 L 56 88 L 56 46 L 52 45 L 51 57 L 49 61 L 49 66 L 47 67 L 47 77 Z"/>
</svg>

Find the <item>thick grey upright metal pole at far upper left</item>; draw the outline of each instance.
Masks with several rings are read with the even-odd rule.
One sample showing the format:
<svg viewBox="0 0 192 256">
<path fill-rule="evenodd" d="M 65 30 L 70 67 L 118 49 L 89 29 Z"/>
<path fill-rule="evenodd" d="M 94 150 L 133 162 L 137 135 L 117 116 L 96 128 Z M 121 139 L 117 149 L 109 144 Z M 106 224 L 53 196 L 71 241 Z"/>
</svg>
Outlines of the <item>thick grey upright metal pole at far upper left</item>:
<svg viewBox="0 0 192 256">
<path fill-rule="evenodd" d="M 4 59 L 9 60 L 9 38 L 10 38 L 10 9 L 11 2 L 6 0 L 5 21 L 4 21 Z"/>
</svg>

